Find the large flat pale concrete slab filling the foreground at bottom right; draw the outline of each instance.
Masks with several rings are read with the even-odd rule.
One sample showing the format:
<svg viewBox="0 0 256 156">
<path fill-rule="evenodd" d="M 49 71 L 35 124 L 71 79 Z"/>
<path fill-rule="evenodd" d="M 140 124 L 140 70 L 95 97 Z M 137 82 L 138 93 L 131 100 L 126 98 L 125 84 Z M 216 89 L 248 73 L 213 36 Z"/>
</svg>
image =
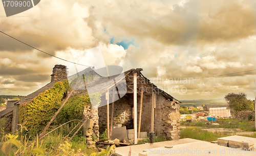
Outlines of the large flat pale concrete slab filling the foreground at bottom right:
<svg viewBox="0 0 256 156">
<path fill-rule="evenodd" d="M 173 146 L 172 148 L 165 148 Z M 220 146 L 218 144 L 212 144 L 210 142 L 195 140 L 195 139 L 180 139 L 175 141 L 165 141 L 158 142 L 154 144 L 141 144 L 134 146 L 125 146 L 116 148 L 115 154 L 120 155 L 128 155 L 130 151 L 130 147 L 132 150 L 132 155 L 139 156 L 167 156 L 167 155 L 255 155 L 256 151 L 240 151 L 235 148 L 229 148 L 225 146 Z"/>
</svg>

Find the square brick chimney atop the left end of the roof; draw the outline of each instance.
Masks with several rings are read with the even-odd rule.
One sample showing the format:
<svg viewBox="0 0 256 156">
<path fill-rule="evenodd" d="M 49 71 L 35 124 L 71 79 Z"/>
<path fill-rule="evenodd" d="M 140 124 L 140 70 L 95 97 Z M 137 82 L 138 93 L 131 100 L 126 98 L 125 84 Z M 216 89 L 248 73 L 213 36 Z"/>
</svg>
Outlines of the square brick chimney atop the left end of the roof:
<svg viewBox="0 0 256 156">
<path fill-rule="evenodd" d="M 52 70 L 51 76 L 51 82 L 67 78 L 66 65 L 56 64 Z"/>
</svg>

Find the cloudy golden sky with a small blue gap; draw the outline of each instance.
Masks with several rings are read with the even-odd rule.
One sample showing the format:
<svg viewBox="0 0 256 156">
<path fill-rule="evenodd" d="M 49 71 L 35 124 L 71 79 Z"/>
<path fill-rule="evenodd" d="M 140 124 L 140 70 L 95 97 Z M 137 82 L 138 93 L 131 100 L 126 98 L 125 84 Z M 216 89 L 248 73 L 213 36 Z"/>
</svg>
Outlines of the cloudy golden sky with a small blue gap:
<svg viewBox="0 0 256 156">
<path fill-rule="evenodd" d="M 254 99 L 256 71 L 184 81 L 256 69 L 253 0 L 44 0 L 10 17 L 1 4 L 0 30 L 63 59 L 100 47 L 105 64 L 143 68 L 178 100 Z M 36 91 L 54 64 L 66 62 L 0 34 L 0 95 Z"/>
</svg>

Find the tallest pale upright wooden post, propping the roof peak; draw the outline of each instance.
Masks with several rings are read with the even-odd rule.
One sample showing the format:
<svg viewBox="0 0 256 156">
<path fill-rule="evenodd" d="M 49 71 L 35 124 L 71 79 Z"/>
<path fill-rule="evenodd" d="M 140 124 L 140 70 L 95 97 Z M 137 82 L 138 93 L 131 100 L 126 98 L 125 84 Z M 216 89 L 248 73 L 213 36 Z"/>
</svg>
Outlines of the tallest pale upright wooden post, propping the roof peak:
<svg viewBox="0 0 256 156">
<path fill-rule="evenodd" d="M 133 73 L 133 110 L 134 110 L 134 144 L 138 143 L 137 138 L 137 73 Z"/>
</svg>

